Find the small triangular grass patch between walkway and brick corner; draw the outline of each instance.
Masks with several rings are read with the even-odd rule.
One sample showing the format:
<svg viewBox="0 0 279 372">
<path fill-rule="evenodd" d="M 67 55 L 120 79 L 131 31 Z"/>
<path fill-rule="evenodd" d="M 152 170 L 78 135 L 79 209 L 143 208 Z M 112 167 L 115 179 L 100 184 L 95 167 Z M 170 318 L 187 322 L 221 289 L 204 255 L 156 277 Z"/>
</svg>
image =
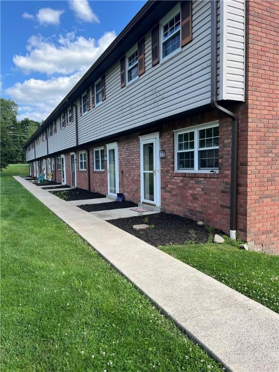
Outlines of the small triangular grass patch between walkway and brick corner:
<svg viewBox="0 0 279 372">
<path fill-rule="evenodd" d="M 239 249 L 226 236 L 222 245 L 186 242 L 159 247 L 249 298 L 279 312 L 279 256 Z"/>
</svg>

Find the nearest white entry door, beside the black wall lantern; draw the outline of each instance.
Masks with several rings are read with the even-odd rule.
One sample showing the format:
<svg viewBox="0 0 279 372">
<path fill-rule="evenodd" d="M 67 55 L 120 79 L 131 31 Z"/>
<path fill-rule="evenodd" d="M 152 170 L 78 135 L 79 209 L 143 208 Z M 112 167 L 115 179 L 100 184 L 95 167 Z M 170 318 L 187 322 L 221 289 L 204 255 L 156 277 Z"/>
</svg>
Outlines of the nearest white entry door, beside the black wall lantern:
<svg viewBox="0 0 279 372">
<path fill-rule="evenodd" d="M 141 202 L 161 206 L 159 133 L 140 136 Z"/>
</svg>

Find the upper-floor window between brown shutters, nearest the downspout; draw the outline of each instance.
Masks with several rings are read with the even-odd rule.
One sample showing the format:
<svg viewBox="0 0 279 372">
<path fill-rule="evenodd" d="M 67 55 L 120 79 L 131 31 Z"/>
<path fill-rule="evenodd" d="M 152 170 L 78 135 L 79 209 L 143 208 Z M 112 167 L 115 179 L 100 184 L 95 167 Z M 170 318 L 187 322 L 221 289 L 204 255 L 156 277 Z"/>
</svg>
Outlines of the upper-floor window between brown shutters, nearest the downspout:
<svg viewBox="0 0 279 372">
<path fill-rule="evenodd" d="M 168 60 L 181 48 L 180 3 L 160 21 L 161 61 Z"/>
</svg>

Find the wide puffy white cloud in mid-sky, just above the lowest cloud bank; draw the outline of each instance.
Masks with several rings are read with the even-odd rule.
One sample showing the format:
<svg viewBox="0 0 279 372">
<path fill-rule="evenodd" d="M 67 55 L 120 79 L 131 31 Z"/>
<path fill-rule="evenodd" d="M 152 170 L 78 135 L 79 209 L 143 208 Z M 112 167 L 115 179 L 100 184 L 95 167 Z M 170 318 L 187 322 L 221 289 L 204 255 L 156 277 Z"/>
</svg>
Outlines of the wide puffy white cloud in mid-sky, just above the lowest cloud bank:
<svg viewBox="0 0 279 372">
<path fill-rule="evenodd" d="M 31 36 L 25 56 L 15 55 L 13 62 L 26 73 L 37 71 L 52 75 L 71 74 L 90 67 L 115 38 L 115 32 L 105 32 L 99 39 L 86 39 L 74 32 L 60 35 L 58 45 L 41 35 Z"/>
</svg>

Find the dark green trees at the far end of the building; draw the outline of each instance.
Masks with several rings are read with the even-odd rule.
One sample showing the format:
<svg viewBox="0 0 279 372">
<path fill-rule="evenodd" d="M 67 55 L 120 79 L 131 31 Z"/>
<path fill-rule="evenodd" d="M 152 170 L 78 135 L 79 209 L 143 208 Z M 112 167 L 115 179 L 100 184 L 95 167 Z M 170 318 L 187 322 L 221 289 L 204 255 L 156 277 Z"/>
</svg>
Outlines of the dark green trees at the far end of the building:
<svg viewBox="0 0 279 372">
<path fill-rule="evenodd" d="M 18 106 L 11 99 L 0 99 L 0 170 L 9 164 L 25 162 L 24 143 L 42 124 L 24 118 L 17 120 Z"/>
</svg>

